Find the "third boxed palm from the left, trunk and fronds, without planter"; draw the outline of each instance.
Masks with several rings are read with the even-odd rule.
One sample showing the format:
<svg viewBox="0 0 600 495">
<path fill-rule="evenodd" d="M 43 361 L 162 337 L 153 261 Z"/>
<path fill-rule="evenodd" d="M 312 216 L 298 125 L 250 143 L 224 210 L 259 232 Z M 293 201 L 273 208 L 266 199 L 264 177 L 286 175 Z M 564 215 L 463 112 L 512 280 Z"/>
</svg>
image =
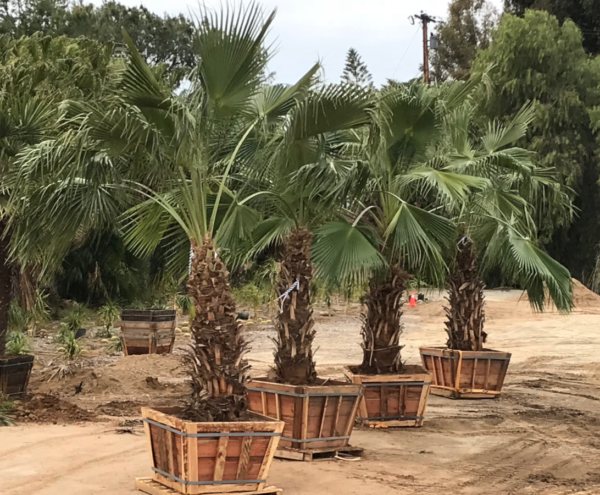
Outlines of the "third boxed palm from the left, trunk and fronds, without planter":
<svg viewBox="0 0 600 495">
<path fill-rule="evenodd" d="M 345 218 L 317 231 L 317 270 L 338 283 L 369 280 L 362 315 L 366 373 L 402 369 L 402 295 L 416 273 L 442 284 L 444 252 L 456 237 L 455 224 L 440 215 L 449 200 L 459 201 L 478 177 L 435 168 L 450 115 L 468 103 L 480 79 L 429 88 L 391 83 L 381 91 L 366 151 L 364 199 Z M 439 213 L 438 213 L 439 212 Z"/>
</svg>

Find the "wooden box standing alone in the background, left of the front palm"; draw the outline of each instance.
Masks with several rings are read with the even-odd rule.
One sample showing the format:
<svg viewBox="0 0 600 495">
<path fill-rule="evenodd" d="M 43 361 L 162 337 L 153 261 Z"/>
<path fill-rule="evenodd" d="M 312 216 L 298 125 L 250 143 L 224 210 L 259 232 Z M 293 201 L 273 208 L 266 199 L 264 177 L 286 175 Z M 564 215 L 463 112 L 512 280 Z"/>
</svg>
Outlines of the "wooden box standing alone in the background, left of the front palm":
<svg viewBox="0 0 600 495">
<path fill-rule="evenodd" d="M 121 312 L 123 353 L 169 354 L 175 344 L 174 310 L 136 310 Z"/>
</svg>

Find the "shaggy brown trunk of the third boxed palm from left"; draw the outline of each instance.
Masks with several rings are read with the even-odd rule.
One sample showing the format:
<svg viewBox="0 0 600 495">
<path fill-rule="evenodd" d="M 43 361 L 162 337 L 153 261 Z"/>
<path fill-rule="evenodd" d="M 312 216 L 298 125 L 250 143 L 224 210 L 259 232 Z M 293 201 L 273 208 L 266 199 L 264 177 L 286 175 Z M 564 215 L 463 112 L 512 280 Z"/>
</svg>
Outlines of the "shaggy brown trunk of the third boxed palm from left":
<svg viewBox="0 0 600 495">
<path fill-rule="evenodd" d="M 365 374 L 391 374 L 402 370 L 400 335 L 402 334 L 402 295 L 406 290 L 408 273 L 392 267 L 385 279 L 372 279 L 365 298 L 366 312 L 362 314 L 364 359 L 361 371 Z"/>
</svg>

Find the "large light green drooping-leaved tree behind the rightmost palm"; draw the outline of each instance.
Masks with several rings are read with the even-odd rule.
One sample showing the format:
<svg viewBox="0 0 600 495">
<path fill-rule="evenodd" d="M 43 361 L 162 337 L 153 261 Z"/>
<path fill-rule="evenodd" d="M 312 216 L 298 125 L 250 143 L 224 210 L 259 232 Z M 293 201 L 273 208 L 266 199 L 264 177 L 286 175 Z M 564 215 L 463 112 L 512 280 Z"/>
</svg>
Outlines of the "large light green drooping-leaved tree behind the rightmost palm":
<svg viewBox="0 0 600 495">
<path fill-rule="evenodd" d="M 587 282 L 600 238 L 598 143 L 590 118 L 600 105 L 600 59 L 586 54 L 573 22 L 561 25 L 546 12 L 530 10 L 523 18 L 504 15 L 489 48 L 477 54 L 473 72 L 491 65 L 495 90 L 489 98 L 482 94 L 482 115 L 507 121 L 533 102 L 534 120 L 520 144 L 536 152 L 540 167 L 557 171 L 579 209 L 569 225 L 552 206 L 540 208 L 540 242 Z"/>
</svg>

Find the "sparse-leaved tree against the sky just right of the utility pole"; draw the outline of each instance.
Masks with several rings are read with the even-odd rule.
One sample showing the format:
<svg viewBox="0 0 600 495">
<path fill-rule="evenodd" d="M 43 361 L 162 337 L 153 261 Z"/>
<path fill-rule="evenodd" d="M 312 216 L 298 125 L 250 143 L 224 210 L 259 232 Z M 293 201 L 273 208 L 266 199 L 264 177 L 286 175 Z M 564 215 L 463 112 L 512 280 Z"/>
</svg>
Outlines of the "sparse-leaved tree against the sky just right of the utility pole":
<svg viewBox="0 0 600 495">
<path fill-rule="evenodd" d="M 486 0 L 454 0 L 448 19 L 436 25 L 437 50 L 431 51 L 431 70 L 436 81 L 466 79 L 478 49 L 490 44 L 499 14 Z"/>
</svg>

